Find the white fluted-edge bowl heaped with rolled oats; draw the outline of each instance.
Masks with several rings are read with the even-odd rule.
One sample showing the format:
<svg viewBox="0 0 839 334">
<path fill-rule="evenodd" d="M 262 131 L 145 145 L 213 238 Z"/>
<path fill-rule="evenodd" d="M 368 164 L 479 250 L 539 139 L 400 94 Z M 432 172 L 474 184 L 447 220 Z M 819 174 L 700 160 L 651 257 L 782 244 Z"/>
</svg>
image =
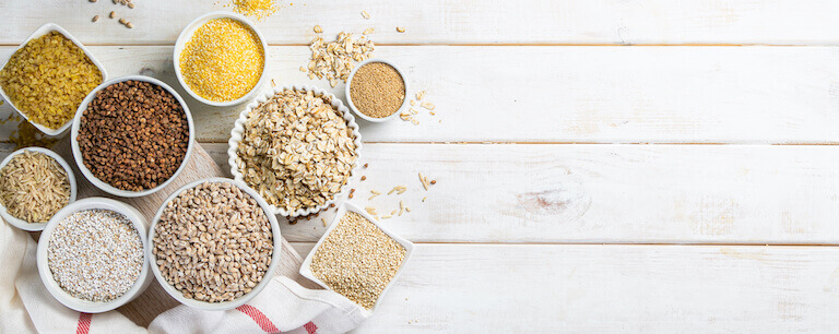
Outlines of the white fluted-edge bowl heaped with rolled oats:
<svg viewBox="0 0 839 334">
<path fill-rule="evenodd" d="M 344 195 L 358 165 L 362 134 L 334 95 L 294 85 L 249 104 L 228 143 L 234 179 L 257 190 L 274 214 L 296 218 Z"/>
</svg>

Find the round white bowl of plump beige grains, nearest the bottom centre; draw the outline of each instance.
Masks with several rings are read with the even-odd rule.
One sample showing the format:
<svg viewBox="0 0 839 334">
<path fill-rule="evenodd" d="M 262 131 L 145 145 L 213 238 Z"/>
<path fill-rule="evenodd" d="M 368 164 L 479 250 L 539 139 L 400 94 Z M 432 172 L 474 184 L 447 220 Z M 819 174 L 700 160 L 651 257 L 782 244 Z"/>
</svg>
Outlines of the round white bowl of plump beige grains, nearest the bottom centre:
<svg viewBox="0 0 839 334">
<path fill-rule="evenodd" d="M 280 265 L 280 225 L 247 184 L 208 178 L 175 191 L 152 220 L 146 258 L 175 300 L 205 311 L 240 307 Z"/>
</svg>

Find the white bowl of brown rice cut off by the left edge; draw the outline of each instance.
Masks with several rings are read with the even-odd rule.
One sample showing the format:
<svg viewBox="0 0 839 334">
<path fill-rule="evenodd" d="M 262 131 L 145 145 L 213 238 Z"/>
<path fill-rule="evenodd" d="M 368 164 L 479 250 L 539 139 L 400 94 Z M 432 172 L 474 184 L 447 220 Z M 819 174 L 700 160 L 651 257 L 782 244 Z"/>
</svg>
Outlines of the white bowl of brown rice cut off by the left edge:
<svg viewBox="0 0 839 334">
<path fill-rule="evenodd" d="M 47 148 L 21 148 L 0 163 L 0 217 L 20 229 L 44 230 L 76 191 L 73 169 Z"/>
</svg>

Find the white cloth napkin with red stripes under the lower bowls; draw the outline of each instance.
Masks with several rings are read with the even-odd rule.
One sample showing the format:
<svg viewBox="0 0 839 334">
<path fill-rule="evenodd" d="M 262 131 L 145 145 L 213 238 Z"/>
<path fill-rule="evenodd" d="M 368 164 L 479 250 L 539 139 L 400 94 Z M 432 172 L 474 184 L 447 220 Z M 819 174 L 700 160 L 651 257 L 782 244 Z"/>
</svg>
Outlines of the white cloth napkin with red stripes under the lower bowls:
<svg viewBox="0 0 839 334">
<path fill-rule="evenodd" d="M 149 329 L 117 311 L 80 313 L 52 298 L 40 282 L 37 243 L 0 219 L 0 333 L 344 333 L 367 317 L 361 307 L 329 290 L 311 290 L 275 275 L 256 298 L 229 311 L 178 306 Z"/>
</svg>

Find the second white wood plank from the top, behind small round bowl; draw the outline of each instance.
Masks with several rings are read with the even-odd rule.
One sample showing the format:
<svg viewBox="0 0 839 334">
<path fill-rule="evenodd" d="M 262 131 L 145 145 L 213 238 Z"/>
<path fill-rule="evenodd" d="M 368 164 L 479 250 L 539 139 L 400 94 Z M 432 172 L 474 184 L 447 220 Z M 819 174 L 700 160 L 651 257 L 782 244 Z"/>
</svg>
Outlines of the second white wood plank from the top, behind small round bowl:
<svg viewBox="0 0 839 334">
<path fill-rule="evenodd" d="M 184 92 L 170 47 L 92 49 L 113 76 L 145 73 Z M 0 59 L 11 51 L 0 47 Z M 837 47 L 410 46 L 376 55 L 400 63 L 437 116 L 423 110 L 420 126 L 363 121 L 366 142 L 839 142 Z M 306 47 L 271 47 L 271 77 L 328 86 L 299 72 L 308 57 Z M 343 85 L 331 92 L 343 97 Z M 244 108 L 187 100 L 203 142 L 226 142 Z"/>
</svg>

